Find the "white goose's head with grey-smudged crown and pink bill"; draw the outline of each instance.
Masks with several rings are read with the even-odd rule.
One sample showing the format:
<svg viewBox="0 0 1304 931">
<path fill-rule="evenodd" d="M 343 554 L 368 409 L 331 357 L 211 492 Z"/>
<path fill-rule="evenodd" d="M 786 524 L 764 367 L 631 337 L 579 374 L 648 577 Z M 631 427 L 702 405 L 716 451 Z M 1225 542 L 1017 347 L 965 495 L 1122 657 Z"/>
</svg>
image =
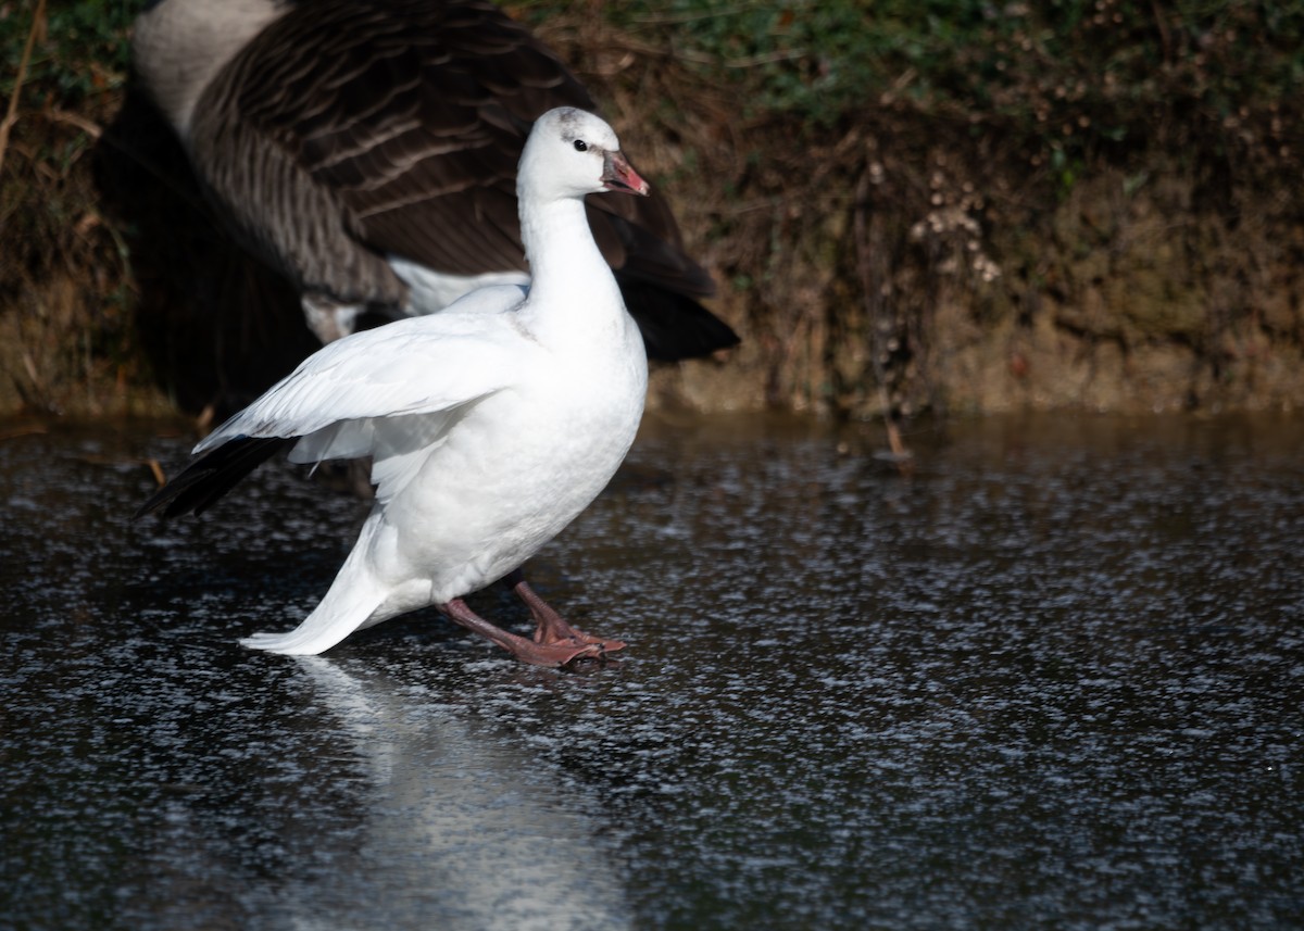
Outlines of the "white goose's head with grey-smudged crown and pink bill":
<svg viewBox="0 0 1304 931">
<path fill-rule="evenodd" d="M 602 190 L 647 196 L 648 183 L 621 154 L 621 141 L 604 120 L 574 107 L 549 110 L 526 142 L 516 172 L 524 202 L 579 200 Z"/>
</svg>

